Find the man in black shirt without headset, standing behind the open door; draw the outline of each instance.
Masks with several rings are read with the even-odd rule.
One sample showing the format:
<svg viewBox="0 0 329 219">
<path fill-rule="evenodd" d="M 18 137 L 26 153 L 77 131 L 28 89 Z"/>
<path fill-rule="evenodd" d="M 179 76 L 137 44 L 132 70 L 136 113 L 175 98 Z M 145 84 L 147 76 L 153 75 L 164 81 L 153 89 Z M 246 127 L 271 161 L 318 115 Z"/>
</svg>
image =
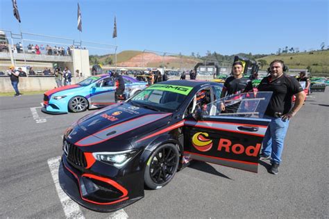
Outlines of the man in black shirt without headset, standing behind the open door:
<svg viewBox="0 0 329 219">
<path fill-rule="evenodd" d="M 241 92 L 248 92 L 253 90 L 253 84 L 251 80 L 245 78 L 242 74 L 243 65 L 242 62 L 236 61 L 233 63 L 233 76 L 229 76 L 223 86 L 223 90 L 221 91 L 221 98 L 229 96 L 229 95 L 237 95 Z M 221 111 L 224 113 L 236 113 L 239 108 L 239 103 L 225 106 L 224 103 L 221 103 Z"/>
</svg>

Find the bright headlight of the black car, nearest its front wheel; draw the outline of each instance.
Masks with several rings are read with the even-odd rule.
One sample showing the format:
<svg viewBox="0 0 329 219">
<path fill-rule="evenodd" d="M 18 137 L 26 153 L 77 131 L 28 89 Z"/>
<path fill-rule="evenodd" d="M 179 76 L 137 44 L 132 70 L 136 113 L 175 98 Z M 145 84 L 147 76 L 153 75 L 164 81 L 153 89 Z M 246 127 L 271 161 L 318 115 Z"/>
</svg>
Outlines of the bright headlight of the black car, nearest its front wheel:
<svg viewBox="0 0 329 219">
<path fill-rule="evenodd" d="M 120 168 L 135 156 L 137 150 L 127 150 L 123 152 L 94 152 L 92 155 L 97 161 L 109 163 Z"/>
</svg>

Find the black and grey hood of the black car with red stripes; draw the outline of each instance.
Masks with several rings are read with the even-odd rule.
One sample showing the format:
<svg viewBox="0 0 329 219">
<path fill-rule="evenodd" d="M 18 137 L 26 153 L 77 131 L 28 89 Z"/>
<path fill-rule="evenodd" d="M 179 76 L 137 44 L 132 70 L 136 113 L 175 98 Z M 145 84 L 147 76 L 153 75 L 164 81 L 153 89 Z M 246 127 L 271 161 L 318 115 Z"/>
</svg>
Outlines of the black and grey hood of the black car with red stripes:
<svg viewBox="0 0 329 219">
<path fill-rule="evenodd" d="M 115 104 L 78 120 L 78 127 L 89 136 L 78 146 L 90 146 L 107 140 L 131 140 L 168 124 L 171 113 L 151 111 L 128 103 Z"/>
</svg>

